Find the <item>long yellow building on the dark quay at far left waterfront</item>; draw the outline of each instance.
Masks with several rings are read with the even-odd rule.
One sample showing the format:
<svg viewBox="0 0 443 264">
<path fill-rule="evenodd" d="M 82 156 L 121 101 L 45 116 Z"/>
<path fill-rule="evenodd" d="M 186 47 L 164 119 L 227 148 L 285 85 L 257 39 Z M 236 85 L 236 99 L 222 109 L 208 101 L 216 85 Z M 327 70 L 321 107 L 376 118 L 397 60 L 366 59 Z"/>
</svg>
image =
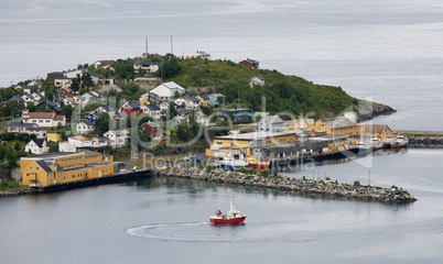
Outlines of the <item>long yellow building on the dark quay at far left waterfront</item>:
<svg viewBox="0 0 443 264">
<path fill-rule="evenodd" d="M 58 152 L 20 158 L 23 185 L 50 186 L 114 174 L 112 156 L 95 152 Z"/>
</svg>

